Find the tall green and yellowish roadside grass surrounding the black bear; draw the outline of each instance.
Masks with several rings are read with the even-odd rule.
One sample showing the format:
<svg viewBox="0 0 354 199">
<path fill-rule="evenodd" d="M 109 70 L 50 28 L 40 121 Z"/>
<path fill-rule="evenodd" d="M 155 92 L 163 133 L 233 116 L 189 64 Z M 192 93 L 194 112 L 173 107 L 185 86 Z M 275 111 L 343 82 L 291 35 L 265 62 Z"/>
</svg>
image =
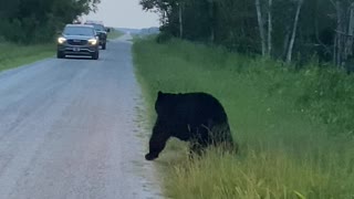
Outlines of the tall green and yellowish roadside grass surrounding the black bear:
<svg viewBox="0 0 354 199">
<path fill-rule="evenodd" d="M 354 142 L 347 132 L 354 122 L 342 119 L 347 126 L 341 126 L 324 119 L 331 114 L 339 117 L 342 111 L 345 117 L 354 116 L 345 107 L 350 100 L 340 102 L 345 98 L 342 87 L 332 91 L 332 83 L 325 82 L 332 75 L 340 76 L 337 81 L 352 77 L 314 67 L 295 72 L 280 62 L 184 41 L 140 40 L 134 44 L 134 54 L 150 124 L 157 91 L 208 92 L 223 104 L 240 144 L 238 155 L 210 149 L 202 158 L 189 160 L 183 143 L 169 142 L 156 160 L 164 172 L 166 196 L 354 198 Z M 343 90 L 352 92 L 348 83 Z M 337 92 L 339 98 L 316 96 L 324 91 Z"/>
</svg>

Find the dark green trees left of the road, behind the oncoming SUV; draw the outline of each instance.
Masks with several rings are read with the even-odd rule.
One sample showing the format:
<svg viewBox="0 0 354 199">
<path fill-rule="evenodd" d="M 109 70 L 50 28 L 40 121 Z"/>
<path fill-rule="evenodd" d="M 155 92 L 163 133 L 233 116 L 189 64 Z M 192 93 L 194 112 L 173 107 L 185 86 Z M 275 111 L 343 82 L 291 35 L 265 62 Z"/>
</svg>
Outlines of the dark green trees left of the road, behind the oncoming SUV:
<svg viewBox="0 0 354 199">
<path fill-rule="evenodd" d="M 95 11 L 101 0 L 1 0 L 0 40 L 46 42 L 64 24 Z"/>
</svg>

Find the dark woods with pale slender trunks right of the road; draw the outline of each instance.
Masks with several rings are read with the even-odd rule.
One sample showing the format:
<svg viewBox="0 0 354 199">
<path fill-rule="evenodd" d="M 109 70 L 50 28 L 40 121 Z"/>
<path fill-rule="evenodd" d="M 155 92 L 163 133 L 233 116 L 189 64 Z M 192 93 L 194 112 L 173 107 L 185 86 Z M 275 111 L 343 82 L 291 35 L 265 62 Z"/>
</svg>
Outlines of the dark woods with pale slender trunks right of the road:
<svg viewBox="0 0 354 199">
<path fill-rule="evenodd" d="M 160 17 L 162 35 L 223 45 L 285 62 L 350 67 L 353 0 L 140 0 Z"/>
</svg>

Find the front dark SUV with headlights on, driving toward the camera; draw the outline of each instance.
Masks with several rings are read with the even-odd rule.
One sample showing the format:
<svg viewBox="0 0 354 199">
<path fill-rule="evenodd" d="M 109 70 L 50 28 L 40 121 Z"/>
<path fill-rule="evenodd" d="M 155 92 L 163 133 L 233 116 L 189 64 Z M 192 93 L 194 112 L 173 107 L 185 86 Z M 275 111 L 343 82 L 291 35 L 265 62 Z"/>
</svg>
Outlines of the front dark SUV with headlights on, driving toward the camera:
<svg viewBox="0 0 354 199">
<path fill-rule="evenodd" d="M 56 57 L 65 55 L 87 55 L 93 60 L 100 56 L 100 39 L 93 25 L 66 24 L 58 38 Z"/>
</svg>

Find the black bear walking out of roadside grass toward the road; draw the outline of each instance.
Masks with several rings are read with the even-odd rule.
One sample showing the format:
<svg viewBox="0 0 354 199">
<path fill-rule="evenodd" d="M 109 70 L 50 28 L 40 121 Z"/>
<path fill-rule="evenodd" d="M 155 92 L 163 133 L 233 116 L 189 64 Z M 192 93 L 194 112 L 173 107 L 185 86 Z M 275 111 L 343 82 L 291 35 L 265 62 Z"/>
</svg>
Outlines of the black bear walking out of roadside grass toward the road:
<svg viewBox="0 0 354 199">
<path fill-rule="evenodd" d="M 157 158 L 170 137 L 189 142 L 191 154 L 200 155 L 209 145 L 237 150 L 225 109 L 210 94 L 158 92 L 155 111 L 157 118 L 146 160 Z"/>
</svg>

